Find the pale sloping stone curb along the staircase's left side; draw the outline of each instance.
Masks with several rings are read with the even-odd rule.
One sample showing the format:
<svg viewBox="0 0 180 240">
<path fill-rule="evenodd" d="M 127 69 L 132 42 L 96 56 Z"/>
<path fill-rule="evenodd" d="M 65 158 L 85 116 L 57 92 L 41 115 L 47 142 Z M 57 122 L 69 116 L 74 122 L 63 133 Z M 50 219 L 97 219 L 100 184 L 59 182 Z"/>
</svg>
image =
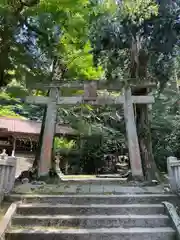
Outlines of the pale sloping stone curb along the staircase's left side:
<svg viewBox="0 0 180 240">
<path fill-rule="evenodd" d="M 21 203 L 22 203 L 21 201 L 12 203 L 10 205 L 10 207 L 8 208 L 4 217 L 0 221 L 0 240 L 4 240 L 5 232 L 6 232 L 7 228 L 11 225 L 11 220 L 16 213 L 18 205 Z"/>
</svg>

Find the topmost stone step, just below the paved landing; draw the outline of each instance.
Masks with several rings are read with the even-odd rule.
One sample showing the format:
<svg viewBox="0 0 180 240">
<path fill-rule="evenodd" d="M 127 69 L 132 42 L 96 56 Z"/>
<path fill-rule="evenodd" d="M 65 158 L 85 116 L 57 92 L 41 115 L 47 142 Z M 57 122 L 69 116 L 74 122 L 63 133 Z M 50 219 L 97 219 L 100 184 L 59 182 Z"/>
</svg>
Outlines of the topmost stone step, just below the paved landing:
<svg viewBox="0 0 180 240">
<path fill-rule="evenodd" d="M 10 195 L 13 201 L 25 200 L 26 203 L 40 202 L 51 204 L 149 204 L 168 201 L 177 203 L 177 196 L 173 194 L 122 194 L 122 195 Z"/>
</svg>

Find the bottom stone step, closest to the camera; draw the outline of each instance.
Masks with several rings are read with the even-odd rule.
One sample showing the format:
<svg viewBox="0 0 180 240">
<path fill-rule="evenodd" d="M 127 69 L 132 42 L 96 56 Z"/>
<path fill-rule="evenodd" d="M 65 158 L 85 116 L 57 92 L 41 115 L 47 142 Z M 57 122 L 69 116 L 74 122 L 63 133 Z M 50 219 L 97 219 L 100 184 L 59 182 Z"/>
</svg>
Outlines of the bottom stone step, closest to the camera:
<svg viewBox="0 0 180 240">
<path fill-rule="evenodd" d="M 6 240 L 174 240 L 172 228 L 12 229 Z"/>
</svg>

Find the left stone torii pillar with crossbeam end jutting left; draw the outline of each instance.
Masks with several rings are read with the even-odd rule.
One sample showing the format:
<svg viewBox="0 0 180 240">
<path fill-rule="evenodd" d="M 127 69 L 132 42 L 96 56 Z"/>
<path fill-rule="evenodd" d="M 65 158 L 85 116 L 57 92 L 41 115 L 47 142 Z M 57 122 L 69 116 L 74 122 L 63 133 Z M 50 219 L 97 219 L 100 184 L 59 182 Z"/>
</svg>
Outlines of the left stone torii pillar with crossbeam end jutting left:
<svg viewBox="0 0 180 240">
<path fill-rule="evenodd" d="M 53 139 L 56 128 L 57 117 L 57 99 L 59 96 L 58 88 L 53 87 L 50 89 L 49 96 L 30 96 L 26 101 L 36 105 L 47 105 L 45 127 L 42 139 L 40 159 L 38 161 L 38 177 L 45 177 L 49 175 L 49 170 L 52 167 L 52 148 Z"/>
</svg>

